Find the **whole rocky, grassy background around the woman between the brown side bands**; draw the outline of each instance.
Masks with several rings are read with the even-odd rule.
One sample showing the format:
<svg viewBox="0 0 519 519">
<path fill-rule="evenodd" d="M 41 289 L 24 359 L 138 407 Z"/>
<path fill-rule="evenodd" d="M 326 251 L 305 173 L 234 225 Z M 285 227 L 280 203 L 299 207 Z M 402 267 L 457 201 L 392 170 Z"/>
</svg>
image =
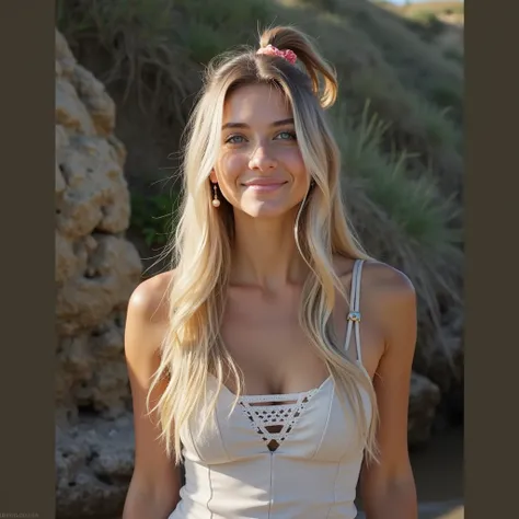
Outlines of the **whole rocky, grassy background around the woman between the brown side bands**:
<svg viewBox="0 0 519 519">
<path fill-rule="evenodd" d="M 204 66 L 257 47 L 273 23 L 308 32 L 336 67 L 346 203 L 368 252 L 418 292 L 420 519 L 463 517 L 463 2 L 58 0 L 58 519 L 120 517 L 134 457 L 126 304 L 168 268 L 158 256 Z"/>
</svg>

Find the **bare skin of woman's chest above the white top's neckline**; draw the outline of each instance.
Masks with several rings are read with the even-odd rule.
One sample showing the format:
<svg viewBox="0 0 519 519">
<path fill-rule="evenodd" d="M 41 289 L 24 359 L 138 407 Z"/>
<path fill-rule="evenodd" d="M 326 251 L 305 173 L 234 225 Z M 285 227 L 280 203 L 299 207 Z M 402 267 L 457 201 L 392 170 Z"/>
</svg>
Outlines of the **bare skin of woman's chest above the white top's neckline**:
<svg viewBox="0 0 519 519">
<path fill-rule="evenodd" d="M 300 304 L 301 292 L 297 289 L 272 297 L 238 290 L 229 293 L 221 335 L 243 372 L 245 392 L 300 392 L 319 387 L 330 374 L 301 327 Z M 348 310 L 347 302 L 337 295 L 328 330 L 338 349 L 345 345 Z M 383 351 L 383 336 L 373 318 L 369 311 L 364 312 L 359 337 L 362 362 L 371 377 Z M 357 359 L 356 337 L 347 355 Z M 232 380 L 228 387 L 235 390 Z"/>
</svg>

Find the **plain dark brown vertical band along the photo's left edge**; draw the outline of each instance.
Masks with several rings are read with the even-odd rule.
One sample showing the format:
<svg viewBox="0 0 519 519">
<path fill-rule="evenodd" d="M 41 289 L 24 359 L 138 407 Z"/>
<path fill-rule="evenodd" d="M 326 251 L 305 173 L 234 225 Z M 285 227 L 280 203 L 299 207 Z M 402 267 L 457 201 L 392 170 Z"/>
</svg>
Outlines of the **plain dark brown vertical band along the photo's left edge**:
<svg viewBox="0 0 519 519">
<path fill-rule="evenodd" d="M 55 517 L 54 7 L 0 2 L 0 517 Z"/>
</svg>

